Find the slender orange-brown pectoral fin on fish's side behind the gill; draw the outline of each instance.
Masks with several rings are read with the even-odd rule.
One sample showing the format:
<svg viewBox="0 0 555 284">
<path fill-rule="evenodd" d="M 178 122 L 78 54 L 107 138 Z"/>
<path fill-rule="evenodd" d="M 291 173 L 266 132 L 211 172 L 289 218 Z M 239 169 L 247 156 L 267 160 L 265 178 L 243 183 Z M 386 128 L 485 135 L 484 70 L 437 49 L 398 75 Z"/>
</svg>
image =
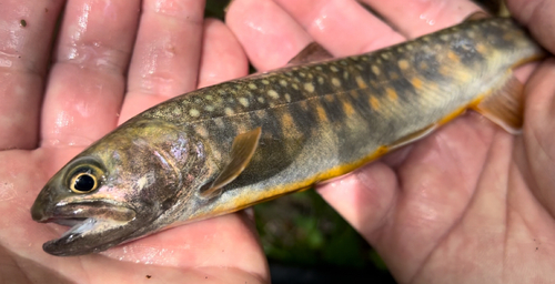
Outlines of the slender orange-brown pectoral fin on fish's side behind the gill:
<svg viewBox="0 0 555 284">
<path fill-rule="evenodd" d="M 201 192 L 201 196 L 211 199 L 222 193 L 223 186 L 235 180 L 246 168 L 259 145 L 261 128 L 256 128 L 246 133 L 239 134 L 231 145 L 230 162 L 212 182 L 210 187 Z"/>
</svg>

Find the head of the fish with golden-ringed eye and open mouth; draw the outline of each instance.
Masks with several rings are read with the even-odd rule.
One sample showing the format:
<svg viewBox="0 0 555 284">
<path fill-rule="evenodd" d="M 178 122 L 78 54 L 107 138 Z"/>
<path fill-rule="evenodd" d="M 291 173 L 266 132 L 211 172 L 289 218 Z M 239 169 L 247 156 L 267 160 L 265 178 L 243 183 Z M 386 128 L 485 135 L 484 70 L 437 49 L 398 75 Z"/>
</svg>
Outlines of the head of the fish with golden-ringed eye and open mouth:
<svg viewBox="0 0 555 284">
<path fill-rule="evenodd" d="M 53 255 L 100 252 L 159 231 L 199 184 L 203 151 L 178 126 L 127 123 L 84 150 L 44 185 L 32 219 L 72 227 L 44 243 Z"/>
</svg>

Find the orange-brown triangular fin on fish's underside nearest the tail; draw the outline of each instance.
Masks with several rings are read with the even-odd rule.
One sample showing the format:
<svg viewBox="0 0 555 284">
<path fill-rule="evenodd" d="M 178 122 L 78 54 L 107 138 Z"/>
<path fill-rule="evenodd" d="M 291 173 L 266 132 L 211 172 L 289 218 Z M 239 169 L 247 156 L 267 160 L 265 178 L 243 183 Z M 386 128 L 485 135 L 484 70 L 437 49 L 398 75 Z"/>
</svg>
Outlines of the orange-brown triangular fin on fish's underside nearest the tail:
<svg viewBox="0 0 555 284">
<path fill-rule="evenodd" d="M 518 134 L 524 115 L 524 85 L 509 74 L 508 81 L 473 106 L 475 111 L 502 126 L 508 133 Z"/>
</svg>

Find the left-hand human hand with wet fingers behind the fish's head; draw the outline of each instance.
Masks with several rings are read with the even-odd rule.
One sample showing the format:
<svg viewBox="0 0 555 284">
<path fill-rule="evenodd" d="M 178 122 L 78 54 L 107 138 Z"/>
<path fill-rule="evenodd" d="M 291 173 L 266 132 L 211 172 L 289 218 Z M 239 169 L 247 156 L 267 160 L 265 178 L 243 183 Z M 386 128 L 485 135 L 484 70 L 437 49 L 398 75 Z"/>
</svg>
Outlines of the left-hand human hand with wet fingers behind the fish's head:
<svg viewBox="0 0 555 284">
<path fill-rule="evenodd" d="M 117 124 L 173 95 L 248 73 L 230 30 L 203 22 L 203 1 L 13 0 L 1 7 L 0 283 L 268 281 L 244 213 L 79 257 L 44 253 L 42 244 L 68 227 L 38 224 L 29 213 L 48 179 Z"/>
</svg>

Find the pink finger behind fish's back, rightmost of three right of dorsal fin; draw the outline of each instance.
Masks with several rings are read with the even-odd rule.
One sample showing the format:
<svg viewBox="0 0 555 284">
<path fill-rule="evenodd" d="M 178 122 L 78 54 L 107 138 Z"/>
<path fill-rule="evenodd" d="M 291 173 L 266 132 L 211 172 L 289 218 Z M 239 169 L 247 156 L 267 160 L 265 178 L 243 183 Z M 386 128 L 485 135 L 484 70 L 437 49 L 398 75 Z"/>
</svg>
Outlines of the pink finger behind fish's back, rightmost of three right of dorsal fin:
<svg viewBox="0 0 555 284">
<path fill-rule="evenodd" d="M 467 16 L 481 11 L 467 0 L 362 0 L 382 16 L 407 39 L 434 32 L 462 22 Z"/>
</svg>

